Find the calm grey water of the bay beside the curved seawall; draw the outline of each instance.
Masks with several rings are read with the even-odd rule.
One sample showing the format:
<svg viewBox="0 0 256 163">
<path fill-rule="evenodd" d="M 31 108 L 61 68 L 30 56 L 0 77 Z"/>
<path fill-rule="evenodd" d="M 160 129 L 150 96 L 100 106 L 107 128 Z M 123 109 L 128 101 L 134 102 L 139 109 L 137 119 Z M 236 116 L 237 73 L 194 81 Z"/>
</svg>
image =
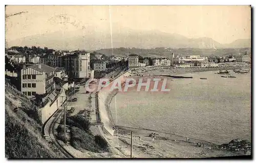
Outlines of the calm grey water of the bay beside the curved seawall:
<svg viewBox="0 0 256 163">
<path fill-rule="evenodd" d="M 129 91 L 112 100 L 116 125 L 142 127 L 228 143 L 251 139 L 251 74 L 222 78 L 216 72 L 183 74 L 168 80 L 170 92 Z M 199 78 L 207 78 L 201 80 Z"/>
</svg>

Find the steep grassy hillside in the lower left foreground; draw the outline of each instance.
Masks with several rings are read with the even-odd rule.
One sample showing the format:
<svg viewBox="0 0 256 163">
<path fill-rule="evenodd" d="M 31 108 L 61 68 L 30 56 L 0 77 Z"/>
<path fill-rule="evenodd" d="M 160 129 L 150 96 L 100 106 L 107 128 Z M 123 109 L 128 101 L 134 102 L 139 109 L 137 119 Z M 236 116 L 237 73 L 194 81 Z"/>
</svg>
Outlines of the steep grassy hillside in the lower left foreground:
<svg viewBox="0 0 256 163">
<path fill-rule="evenodd" d="M 65 157 L 41 134 L 37 110 L 13 90 L 5 94 L 5 155 L 6 158 Z"/>
</svg>

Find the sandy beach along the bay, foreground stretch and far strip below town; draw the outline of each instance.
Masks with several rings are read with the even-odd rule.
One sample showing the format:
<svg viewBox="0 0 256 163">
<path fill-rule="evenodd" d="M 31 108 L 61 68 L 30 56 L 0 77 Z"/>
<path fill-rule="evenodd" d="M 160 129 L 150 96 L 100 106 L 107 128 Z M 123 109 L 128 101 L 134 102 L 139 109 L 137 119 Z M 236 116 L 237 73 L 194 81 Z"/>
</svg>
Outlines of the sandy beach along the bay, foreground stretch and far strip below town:
<svg viewBox="0 0 256 163">
<path fill-rule="evenodd" d="M 223 69 L 239 69 L 241 66 L 207 68 L 154 68 L 156 67 L 153 67 L 153 69 L 136 69 L 136 71 L 132 71 L 132 76 L 152 76 L 161 74 L 178 75 L 194 72 L 218 71 Z M 249 66 L 243 66 L 242 68 L 249 68 Z M 243 155 L 242 152 L 238 153 L 220 150 L 217 148 L 218 145 L 205 142 L 200 139 L 190 138 L 189 142 L 187 142 L 186 136 L 141 128 L 116 126 L 114 136 L 106 131 L 104 132 L 104 135 L 106 138 L 108 138 L 108 142 L 110 143 L 111 148 L 116 148 L 120 153 L 122 153 L 123 156 L 130 157 L 131 131 L 133 131 L 133 157 L 136 158 L 201 158 Z M 149 134 L 152 132 L 159 134 L 156 135 L 154 141 L 152 140 L 152 137 L 149 136 Z M 204 147 L 197 147 L 197 143 L 203 143 Z M 207 155 L 202 153 L 207 153 Z"/>
</svg>

